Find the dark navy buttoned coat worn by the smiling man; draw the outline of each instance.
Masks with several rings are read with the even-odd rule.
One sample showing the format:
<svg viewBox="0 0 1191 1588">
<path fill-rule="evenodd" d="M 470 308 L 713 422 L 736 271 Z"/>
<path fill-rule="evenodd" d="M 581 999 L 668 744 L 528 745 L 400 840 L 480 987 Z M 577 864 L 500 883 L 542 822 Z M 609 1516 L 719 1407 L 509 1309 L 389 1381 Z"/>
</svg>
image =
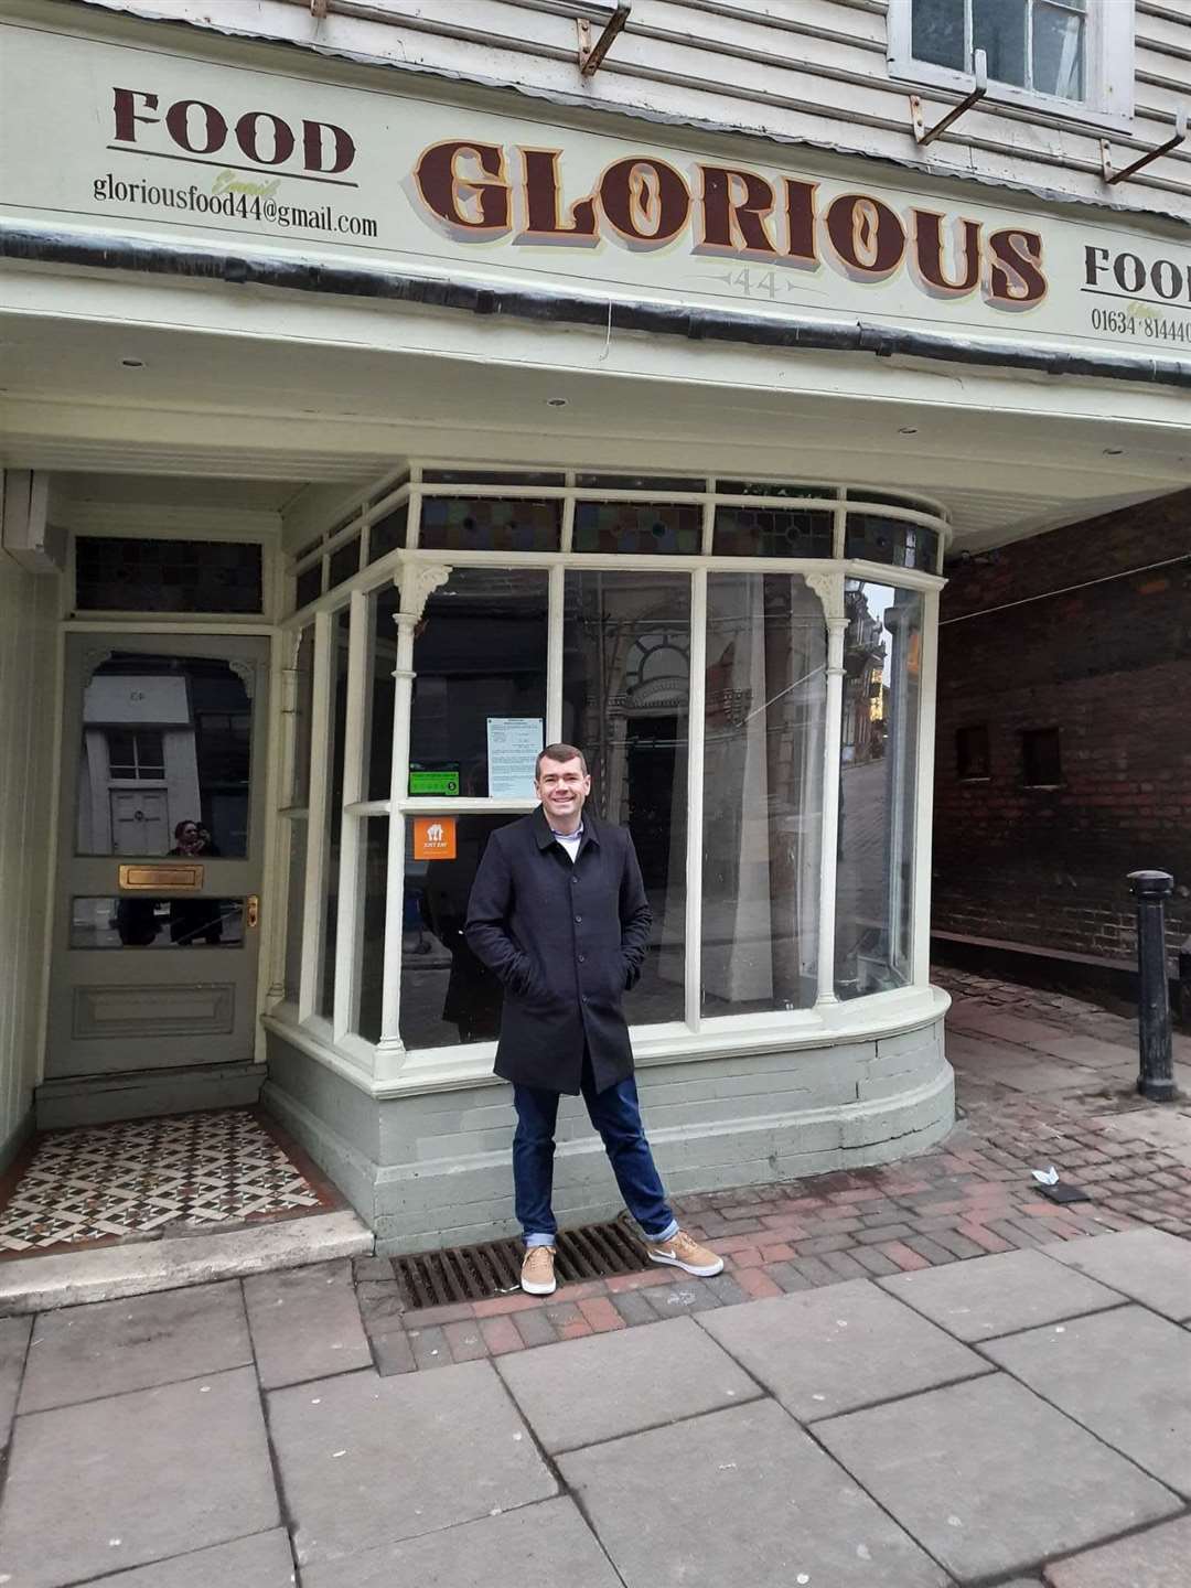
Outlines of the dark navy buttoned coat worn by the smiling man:
<svg viewBox="0 0 1191 1588">
<path fill-rule="evenodd" d="M 584 1043 L 596 1089 L 632 1075 L 621 999 L 642 973 L 649 905 L 624 827 L 583 811 L 572 862 L 538 808 L 497 827 L 467 905 L 467 943 L 505 989 L 495 1073 L 578 1093 Z"/>
</svg>

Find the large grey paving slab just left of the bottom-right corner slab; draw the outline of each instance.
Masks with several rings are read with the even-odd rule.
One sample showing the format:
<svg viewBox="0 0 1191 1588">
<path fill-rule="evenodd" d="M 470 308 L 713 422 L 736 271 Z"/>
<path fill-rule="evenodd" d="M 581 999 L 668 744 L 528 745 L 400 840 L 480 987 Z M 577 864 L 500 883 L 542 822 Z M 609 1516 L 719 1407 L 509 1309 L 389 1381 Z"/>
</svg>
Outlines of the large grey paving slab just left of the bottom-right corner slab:
<svg viewBox="0 0 1191 1588">
<path fill-rule="evenodd" d="M 1027 1571 L 1181 1502 L 1002 1374 L 815 1434 L 961 1583 Z"/>
</svg>

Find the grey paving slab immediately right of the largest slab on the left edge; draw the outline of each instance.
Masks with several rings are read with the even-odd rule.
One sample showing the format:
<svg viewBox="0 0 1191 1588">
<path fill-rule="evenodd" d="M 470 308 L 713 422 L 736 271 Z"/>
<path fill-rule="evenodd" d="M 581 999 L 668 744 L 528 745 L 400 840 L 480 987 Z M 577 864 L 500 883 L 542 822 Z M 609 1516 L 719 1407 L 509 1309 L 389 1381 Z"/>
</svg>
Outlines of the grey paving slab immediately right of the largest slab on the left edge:
<svg viewBox="0 0 1191 1588">
<path fill-rule="evenodd" d="M 275 1390 L 268 1423 L 303 1572 L 557 1493 L 489 1363 Z"/>
</svg>

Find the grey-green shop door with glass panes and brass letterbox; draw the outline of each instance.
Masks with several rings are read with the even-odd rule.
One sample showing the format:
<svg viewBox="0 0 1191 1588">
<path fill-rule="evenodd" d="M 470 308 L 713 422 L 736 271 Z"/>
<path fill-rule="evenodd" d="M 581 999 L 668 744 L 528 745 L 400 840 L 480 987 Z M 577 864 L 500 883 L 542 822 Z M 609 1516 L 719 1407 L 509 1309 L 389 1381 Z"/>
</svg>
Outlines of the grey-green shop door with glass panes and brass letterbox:
<svg viewBox="0 0 1191 1588">
<path fill-rule="evenodd" d="M 267 688 L 264 638 L 68 637 L 48 1077 L 252 1058 Z"/>
</svg>

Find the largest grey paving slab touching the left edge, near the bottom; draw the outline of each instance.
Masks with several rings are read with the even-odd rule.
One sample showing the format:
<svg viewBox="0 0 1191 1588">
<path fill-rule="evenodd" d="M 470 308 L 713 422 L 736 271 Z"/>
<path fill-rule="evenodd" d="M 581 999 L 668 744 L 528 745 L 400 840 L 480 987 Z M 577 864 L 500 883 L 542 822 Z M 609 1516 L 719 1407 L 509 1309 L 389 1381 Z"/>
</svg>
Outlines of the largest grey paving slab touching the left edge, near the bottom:
<svg viewBox="0 0 1191 1588">
<path fill-rule="evenodd" d="M 21 1416 L 0 1561 L 13 1588 L 62 1588 L 279 1523 L 248 1367 Z"/>
</svg>

